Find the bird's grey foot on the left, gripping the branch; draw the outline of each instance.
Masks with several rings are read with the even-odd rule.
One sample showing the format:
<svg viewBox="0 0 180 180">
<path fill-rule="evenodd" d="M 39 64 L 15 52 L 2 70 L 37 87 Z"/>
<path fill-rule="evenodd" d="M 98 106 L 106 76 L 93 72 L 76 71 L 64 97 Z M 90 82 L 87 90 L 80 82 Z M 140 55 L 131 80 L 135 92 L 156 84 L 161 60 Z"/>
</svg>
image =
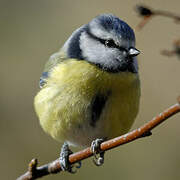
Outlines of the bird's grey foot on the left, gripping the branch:
<svg viewBox="0 0 180 180">
<path fill-rule="evenodd" d="M 73 152 L 69 149 L 68 144 L 65 142 L 62 145 L 61 152 L 60 152 L 60 158 L 59 158 L 59 163 L 61 165 L 61 169 L 63 171 L 68 171 L 70 173 L 76 173 L 77 169 L 81 167 L 81 161 L 77 163 L 77 165 L 72 165 L 69 162 L 69 156 Z"/>
</svg>

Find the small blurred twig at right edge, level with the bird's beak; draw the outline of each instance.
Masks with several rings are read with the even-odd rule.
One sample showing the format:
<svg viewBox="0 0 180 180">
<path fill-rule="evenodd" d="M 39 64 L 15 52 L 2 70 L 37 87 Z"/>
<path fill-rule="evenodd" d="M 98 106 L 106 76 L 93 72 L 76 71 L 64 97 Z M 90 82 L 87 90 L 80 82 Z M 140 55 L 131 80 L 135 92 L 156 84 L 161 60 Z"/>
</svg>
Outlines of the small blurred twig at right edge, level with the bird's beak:
<svg viewBox="0 0 180 180">
<path fill-rule="evenodd" d="M 180 39 L 174 41 L 172 50 L 162 50 L 161 54 L 168 57 L 177 56 L 180 59 Z"/>
</svg>

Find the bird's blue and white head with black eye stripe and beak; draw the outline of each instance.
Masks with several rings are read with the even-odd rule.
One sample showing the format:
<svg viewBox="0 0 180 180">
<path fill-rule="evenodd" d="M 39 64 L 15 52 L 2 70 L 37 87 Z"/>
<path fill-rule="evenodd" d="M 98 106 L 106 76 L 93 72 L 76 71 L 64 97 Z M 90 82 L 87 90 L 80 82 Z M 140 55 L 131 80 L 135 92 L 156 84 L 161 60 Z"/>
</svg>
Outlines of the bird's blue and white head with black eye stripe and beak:
<svg viewBox="0 0 180 180">
<path fill-rule="evenodd" d="M 63 47 L 69 58 L 85 60 L 108 72 L 137 73 L 132 28 L 111 14 L 103 14 L 77 29 Z"/>
</svg>

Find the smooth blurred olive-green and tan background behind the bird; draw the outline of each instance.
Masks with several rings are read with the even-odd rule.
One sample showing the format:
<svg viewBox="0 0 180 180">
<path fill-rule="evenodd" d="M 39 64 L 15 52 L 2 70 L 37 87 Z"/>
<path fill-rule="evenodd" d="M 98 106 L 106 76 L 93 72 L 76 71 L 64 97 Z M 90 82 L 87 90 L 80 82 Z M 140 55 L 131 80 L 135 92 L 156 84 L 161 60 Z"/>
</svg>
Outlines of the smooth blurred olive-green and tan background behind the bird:
<svg viewBox="0 0 180 180">
<path fill-rule="evenodd" d="M 76 28 L 101 13 L 113 13 L 133 28 L 138 3 L 179 13 L 179 0 L 0 0 L 0 179 L 15 179 L 36 157 L 39 165 L 56 159 L 61 144 L 46 135 L 33 109 L 38 81 L 49 56 Z M 180 95 L 180 61 L 160 55 L 179 38 L 180 25 L 156 17 L 136 31 L 142 86 L 141 106 L 133 129 L 150 120 Z M 180 115 L 153 130 L 153 136 L 106 153 L 105 164 L 83 161 L 77 174 L 50 179 L 180 179 Z M 77 149 L 74 149 L 77 151 Z"/>
</svg>

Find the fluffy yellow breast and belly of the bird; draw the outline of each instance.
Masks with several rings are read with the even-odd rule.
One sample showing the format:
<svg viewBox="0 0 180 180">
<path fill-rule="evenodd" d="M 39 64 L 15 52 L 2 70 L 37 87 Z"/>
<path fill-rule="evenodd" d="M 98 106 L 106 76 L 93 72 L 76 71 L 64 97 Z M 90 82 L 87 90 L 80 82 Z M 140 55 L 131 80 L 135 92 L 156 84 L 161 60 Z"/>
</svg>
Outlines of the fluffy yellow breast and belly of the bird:
<svg viewBox="0 0 180 180">
<path fill-rule="evenodd" d="M 90 105 L 96 94 L 110 96 L 92 127 Z M 108 73 L 86 61 L 57 65 L 35 97 L 35 110 L 43 129 L 59 141 L 89 146 L 96 138 L 126 133 L 137 115 L 140 84 L 137 74 Z"/>
</svg>

